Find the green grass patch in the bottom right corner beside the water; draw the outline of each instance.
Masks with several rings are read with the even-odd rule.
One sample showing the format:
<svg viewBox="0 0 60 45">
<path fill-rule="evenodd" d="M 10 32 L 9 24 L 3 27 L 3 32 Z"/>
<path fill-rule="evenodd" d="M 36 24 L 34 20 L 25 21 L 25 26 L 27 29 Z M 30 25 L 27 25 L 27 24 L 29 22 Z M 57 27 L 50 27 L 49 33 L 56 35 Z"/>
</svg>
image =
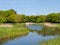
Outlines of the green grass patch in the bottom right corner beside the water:
<svg viewBox="0 0 60 45">
<path fill-rule="evenodd" d="M 60 38 L 43 41 L 40 45 L 60 45 Z"/>
</svg>

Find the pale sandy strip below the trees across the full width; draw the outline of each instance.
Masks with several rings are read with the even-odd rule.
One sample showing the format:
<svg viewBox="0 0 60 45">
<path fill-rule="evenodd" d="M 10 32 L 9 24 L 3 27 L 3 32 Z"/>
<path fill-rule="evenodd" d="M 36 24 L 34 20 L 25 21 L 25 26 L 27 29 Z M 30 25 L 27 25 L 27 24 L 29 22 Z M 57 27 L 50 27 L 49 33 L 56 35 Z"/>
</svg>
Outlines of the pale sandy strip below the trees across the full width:
<svg viewBox="0 0 60 45">
<path fill-rule="evenodd" d="M 56 24 L 56 23 L 31 23 L 31 22 L 27 22 L 27 23 L 14 23 L 15 25 L 13 25 L 12 23 L 2 23 L 0 24 L 0 27 L 14 27 L 17 26 L 16 24 L 19 24 L 20 26 L 22 25 L 32 25 L 32 24 L 39 24 L 39 25 L 44 25 L 46 27 L 57 27 L 60 26 L 60 24 Z"/>
</svg>

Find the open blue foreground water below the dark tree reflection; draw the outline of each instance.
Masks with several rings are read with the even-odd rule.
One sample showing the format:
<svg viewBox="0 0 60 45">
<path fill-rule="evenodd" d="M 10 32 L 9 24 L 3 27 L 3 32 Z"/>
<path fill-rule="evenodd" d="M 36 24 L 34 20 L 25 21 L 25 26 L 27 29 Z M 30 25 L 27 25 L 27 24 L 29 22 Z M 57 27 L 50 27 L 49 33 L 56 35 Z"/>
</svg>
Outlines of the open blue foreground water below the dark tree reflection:
<svg viewBox="0 0 60 45">
<path fill-rule="evenodd" d="M 56 36 L 42 36 L 35 32 L 29 32 L 27 36 L 16 38 L 14 40 L 3 43 L 2 45 L 38 45 L 39 41 L 53 39 Z"/>
</svg>

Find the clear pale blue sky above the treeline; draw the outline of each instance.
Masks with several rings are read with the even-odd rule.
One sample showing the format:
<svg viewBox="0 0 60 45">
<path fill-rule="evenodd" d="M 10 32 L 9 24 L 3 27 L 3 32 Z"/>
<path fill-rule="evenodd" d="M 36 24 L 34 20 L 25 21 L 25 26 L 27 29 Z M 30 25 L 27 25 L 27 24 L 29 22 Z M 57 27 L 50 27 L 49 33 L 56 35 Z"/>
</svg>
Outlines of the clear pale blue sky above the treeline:
<svg viewBox="0 0 60 45">
<path fill-rule="evenodd" d="M 0 0 L 0 10 L 9 9 L 25 15 L 49 14 L 60 12 L 60 0 Z"/>
</svg>

